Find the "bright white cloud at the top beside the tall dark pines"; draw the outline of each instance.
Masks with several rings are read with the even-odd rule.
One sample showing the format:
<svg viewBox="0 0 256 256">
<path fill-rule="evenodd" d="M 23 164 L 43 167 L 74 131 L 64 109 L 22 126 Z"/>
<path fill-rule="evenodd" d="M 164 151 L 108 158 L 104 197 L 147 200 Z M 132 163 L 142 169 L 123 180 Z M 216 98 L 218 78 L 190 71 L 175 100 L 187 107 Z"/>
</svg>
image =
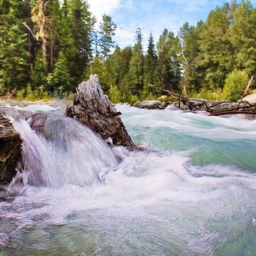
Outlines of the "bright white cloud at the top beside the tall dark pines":
<svg viewBox="0 0 256 256">
<path fill-rule="evenodd" d="M 121 0 L 87 0 L 87 2 L 97 22 L 101 20 L 103 14 L 110 14 L 121 6 Z"/>
</svg>

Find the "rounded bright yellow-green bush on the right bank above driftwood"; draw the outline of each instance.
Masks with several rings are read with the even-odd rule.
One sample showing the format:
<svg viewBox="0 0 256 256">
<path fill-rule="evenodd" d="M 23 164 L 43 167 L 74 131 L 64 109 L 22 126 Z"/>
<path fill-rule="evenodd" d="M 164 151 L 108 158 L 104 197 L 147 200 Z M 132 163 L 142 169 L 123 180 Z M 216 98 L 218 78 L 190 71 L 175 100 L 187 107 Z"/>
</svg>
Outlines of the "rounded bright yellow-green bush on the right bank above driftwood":
<svg viewBox="0 0 256 256">
<path fill-rule="evenodd" d="M 227 100 L 239 100 L 248 83 L 248 74 L 245 70 L 232 71 L 225 80 L 223 97 Z"/>
</svg>

